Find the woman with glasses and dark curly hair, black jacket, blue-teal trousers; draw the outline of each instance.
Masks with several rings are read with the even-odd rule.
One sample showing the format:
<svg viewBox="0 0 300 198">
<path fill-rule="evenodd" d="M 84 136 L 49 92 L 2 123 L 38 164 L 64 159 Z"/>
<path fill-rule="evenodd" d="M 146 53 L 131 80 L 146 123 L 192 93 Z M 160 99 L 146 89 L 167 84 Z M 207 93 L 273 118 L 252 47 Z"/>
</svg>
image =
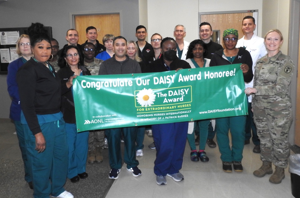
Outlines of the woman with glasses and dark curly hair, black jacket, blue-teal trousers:
<svg viewBox="0 0 300 198">
<path fill-rule="evenodd" d="M 62 83 L 70 80 L 70 76 L 91 75 L 91 72 L 80 64 L 79 49 L 75 45 L 64 47 L 58 59 L 58 77 Z M 79 182 L 79 178 L 85 179 L 88 173 L 85 172 L 86 159 L 88 156 L 88 131 L 77 133 L 75 106 L 73 98 L 73 86 L 62 95 L 61 112 L 64 115 L 67 131 L 67 144 L 69 147 L 69 165 L 67 178 L 72 183 Z"/>
</svg>

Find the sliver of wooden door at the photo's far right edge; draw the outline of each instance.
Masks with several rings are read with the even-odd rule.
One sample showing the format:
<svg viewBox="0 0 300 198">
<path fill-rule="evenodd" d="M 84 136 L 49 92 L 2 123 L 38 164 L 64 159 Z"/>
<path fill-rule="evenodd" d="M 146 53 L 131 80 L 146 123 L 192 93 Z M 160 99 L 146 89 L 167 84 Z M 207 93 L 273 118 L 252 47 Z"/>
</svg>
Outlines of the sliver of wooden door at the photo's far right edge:
<svg viewBox="0 0 300 198">
<path fill-rule="evenodd" d="M 299 35 L 300 39 L 300 35 Z M 298 71 L 300 71 L 300 46 L 298 50 Z M 296 69 L 296 67 L 295 67 Z M 295 121 L 295 144 L 300 147 L 300 75 L 294 71 L 294 75 L 297 75 L 297 99 L 296 99 L 296 118 Z"/>
</svg>

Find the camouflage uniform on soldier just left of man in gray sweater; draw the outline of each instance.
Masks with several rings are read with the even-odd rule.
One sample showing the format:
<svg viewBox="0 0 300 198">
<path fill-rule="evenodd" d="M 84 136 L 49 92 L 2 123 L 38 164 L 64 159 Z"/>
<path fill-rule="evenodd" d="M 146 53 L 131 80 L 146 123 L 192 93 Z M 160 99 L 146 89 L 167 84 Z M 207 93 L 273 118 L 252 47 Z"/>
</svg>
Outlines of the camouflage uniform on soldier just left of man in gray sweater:
<svg viewBox="0 0 300 198">
<path fill-rule="evenodd" d="M 92 75 L 98 75 L 99 68 L 103 60 L 94 58 L 91 63 L 86 63 L 84 61 L 84 66 L 91 71 Z M 95 150 L 95 147 L 102 147 L 104 145 L 104 130 L 90 132 L 88 135 L 88 151 Z"/>
</svg>

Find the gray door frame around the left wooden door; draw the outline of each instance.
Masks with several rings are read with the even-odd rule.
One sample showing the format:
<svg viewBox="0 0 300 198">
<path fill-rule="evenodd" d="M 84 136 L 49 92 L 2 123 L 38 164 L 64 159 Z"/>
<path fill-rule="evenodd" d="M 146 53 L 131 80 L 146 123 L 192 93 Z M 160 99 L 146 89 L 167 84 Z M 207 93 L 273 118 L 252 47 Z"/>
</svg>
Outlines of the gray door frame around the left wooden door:
<svg viewBox="0 0 300 198">
<path fill-rule="evenodd" d="M 82 16 L 82 15 L 105 15 L 105 14 L 119 14 L 120 16 L 120 35 L 124 35 L 123 34 L 123 12 L 122 10 L 114 10 L 114 11 L 105 11 L 105 12 L 101 12 L 101 11 L 80 11 L 80 12 L 70 12 L 69 13 L 69 18 L 70 18 L 70 29 L 75 27 L 75 22 L 74 22 L 74 18 L 75 16 Z"/>
</svg>

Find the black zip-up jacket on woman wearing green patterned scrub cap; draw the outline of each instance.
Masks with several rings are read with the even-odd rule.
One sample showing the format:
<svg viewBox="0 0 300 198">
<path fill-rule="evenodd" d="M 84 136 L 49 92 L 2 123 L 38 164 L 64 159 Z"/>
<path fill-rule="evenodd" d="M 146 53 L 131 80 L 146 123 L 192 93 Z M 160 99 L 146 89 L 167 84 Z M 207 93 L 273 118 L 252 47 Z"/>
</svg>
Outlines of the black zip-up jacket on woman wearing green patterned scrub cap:
<svg viewBox="0 0 300 198">
<path fill-rule="evenodd" d="M 240 47 L 238 48 L 238 54 L 236 55 L 235 59 L 232 63 L 230 63 L 226 57 L 223 57 L 224 49 L 220 49 L 212 55 L 209 66 L 221 66 L 221 65 L 230 65 L 230 64 L 247 64 L 249 66 L 249 70 L 244 75 L 244 82 L 250 83 L 253 79 L 253 71 L 252 71 L 252 58 L 250 53 L 245 50 L 245 48 Z"/>
</svg>

